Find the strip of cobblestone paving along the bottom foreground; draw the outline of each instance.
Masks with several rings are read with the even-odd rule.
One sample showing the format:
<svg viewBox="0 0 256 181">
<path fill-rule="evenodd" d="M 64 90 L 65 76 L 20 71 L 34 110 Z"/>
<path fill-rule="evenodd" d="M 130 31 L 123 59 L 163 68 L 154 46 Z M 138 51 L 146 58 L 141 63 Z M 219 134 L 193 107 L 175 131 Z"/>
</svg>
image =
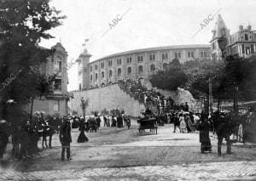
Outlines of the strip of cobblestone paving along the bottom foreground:
<svg viewBox="0 0 256 181">
<path fill-rule="evenodd" d="M 242 180 L 256 179 L 256 161 L 228 161 L 177 166 L 86 168 L 19 173 L 1 180 Z"/>
</svg>

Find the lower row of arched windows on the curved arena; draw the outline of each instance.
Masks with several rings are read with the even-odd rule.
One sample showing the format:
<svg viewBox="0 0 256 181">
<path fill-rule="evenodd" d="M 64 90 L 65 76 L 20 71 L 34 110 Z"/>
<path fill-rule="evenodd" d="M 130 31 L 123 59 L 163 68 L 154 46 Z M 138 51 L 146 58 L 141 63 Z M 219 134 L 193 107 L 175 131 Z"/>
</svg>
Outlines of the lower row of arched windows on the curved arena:
<svg viewBox="0 0 256 181">
<path fill-rule="evenodd" d="M 152 64 L 152 65 L 150 65 L 150 71 L 151 72 L 154 72 L 155 71 L 155 65 L 154 64 Z M 131 69 L 131 66 L 129 66 L 129 67 L 127 67 L 127 76 L 131 76 L 131 73 L 132 73 L 132 69 Z M 138 74 L 139 75 L 142 75 L 143 74 L 143 65 L 139 65 L 138 66 Z M 104 78 L 105 77 L 105 72 L 104 71 L 102 71 L 102 78 Z M 109 70 L 108 71 L 108 78 L 112 78 L 112 76 L 113 76 L 113 71 L 112 70 Z M 118 68 L 118 70 L 117 70 L 117 76 L 122 76 L 122 69 L 121 68 Z M 96 73 L 95 74 L 95 79 L 96 79 L 96 81 L 97 81 L 97 79 L 98 79 L 98 73 Z M 92 82 L 92 75 L 90 75 L 90 82 Z"/>
</svg>

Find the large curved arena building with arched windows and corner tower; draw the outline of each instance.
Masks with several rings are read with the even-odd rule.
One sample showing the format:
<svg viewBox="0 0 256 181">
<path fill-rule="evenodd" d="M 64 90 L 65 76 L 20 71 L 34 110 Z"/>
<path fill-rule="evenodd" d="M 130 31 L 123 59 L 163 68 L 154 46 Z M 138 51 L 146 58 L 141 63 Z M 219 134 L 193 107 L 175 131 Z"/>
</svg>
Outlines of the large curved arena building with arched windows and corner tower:
<svg viewBox="0 0 256 181">
<path fill-rule="evenodd" d="M 148 77 L 163 70 L 163 65 L 179 59 L 181 63 L 191 59 L 210 59 L 210 45 L 177 45 L 143 48 L 111 54 L 90 62 L 90 54 L 84 51 L 76 60 L 79 64 L 79 90 L 106 85 L 119 80 Z"/>
</svg>

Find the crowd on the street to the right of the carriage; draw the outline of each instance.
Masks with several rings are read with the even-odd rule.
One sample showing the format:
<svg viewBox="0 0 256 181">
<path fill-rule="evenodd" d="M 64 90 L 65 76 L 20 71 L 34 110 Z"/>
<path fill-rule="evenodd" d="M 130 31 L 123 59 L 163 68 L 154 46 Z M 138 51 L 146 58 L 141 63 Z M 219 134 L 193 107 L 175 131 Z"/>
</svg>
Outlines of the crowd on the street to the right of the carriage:
<svg viewBox="0 0 256 181">
<path fill-rule="evenodd" d="M 224 139 L 227 143 L 227 154 L 231 153 L 231 142 L 255 142 L 255 139 L 253 140 L 253 138 L 255 137 L 256 114 L 252 109 L 246 114 L 235 114 L 234 112 L 225 112 L 224 110 L 213 112 L 211 115 L 204 112 L 201 114 L 194 114 L 191 111 L 184 111 L 181 109 L 156 115 L 152 110 L 147 108 L 144 116 L 155 118 L 159 126 L 163 126 L 165 123 L 173 123 L 173 133 L 176 133 L 177 131 L 179 133 L 199 132 L 201 153 L 212 151 L 211 140 L 209 137 L 210 132 L 216 133 L 218 137 L 218 156 L 221 156 L 221 145 Z"/>
</svg>

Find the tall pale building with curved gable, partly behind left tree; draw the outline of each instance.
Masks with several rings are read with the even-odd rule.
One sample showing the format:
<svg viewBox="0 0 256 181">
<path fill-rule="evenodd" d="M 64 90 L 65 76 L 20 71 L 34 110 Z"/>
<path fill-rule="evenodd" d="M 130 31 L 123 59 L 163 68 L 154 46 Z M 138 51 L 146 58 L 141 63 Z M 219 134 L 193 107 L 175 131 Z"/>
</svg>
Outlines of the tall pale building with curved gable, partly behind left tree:
<svg viewBox="0 0 256 181">
<path fill-rule="evenodd" d="M 33 112 L 44 111 L 50 116 L 67 116 L 67 52 L 60 42 L 52 47 L 55 53 L 48 58 L 48 61 L 40 65 L 40 71 L 44 75 L 53 75 L 58 72 L 54 82 L 54 93 L 43 99 L 36 99 L 33 104 Z M 30 111 L 31 105 L 26 106 Z"/>
</svg>

